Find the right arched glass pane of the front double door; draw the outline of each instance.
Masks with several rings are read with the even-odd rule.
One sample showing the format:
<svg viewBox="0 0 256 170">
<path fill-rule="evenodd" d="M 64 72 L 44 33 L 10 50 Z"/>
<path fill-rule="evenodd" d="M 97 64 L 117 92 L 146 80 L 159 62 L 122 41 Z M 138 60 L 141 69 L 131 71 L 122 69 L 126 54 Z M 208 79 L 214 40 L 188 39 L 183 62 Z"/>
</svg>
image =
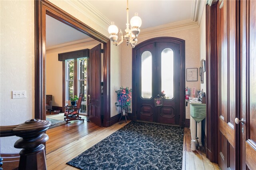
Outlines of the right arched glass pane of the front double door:
<svg viewBox="0 0 256 170">
<path fill-rule="evenodd" d="M 174 97 L 174 59 L 173 51 L 166 48 L 161 53 L 161 75 L 163 99 L 172 99 Z"/>
</svg>

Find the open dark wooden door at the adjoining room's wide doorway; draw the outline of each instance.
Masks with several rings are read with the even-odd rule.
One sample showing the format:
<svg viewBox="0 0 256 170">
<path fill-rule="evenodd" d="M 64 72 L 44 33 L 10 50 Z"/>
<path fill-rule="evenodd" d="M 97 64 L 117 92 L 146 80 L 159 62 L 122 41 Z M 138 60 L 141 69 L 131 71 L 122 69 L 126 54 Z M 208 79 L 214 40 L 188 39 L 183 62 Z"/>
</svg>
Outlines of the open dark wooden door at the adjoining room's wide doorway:
<svg viewBox="0 0 256 170">
<path fill-rule="evenodd" d="M 101 44 L 90 49 L 89 57 L 89 118 L 99 127 L 101 126 Z"/>
</svg>

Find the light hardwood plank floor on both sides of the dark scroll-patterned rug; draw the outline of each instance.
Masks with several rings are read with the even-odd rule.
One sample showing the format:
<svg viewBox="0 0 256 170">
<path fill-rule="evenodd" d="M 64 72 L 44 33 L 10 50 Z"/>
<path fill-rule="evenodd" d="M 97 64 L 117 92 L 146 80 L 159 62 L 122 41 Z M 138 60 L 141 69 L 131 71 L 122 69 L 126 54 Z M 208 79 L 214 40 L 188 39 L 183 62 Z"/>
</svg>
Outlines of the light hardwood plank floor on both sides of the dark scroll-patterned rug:
<svg viewBox="0 0 256 170">
<path fill-rule="evenodd" d="M 63 113 L 47 115 L 47 118 L 64 120 Z M 71 121 L 46 131 L 49 140 L 46 142 L 46 164 L 48 170 L 76 169 L 66 164 L 88 148 L 94 146 L 116 130 L 126 125 L 125 121 L 116 123 L 111 127 L 98 127 L 93 122 Z M 129 123 L 128 121 L 127 123 Z M 190 149 L 190 130 L 184 129 L 182 170 L 219 170 L 218 164 L 210 162 L 205 153 Z"/>
</svg>

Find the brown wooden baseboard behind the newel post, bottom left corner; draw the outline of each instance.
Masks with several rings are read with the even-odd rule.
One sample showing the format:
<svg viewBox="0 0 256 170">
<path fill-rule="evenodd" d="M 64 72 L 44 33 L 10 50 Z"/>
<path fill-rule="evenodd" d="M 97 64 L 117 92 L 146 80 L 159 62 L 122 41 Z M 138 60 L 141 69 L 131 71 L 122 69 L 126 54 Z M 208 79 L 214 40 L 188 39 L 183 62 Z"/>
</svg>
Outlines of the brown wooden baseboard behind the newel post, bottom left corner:
<svg viewBox="0 0 256 170">
<path fill-rule="evenodd" d="M 10 154 L 1 154 L 3 158 L 3 166 L 4 170 L 13 170 L 18 168 L 20 162 L 20 154 L 19 153 L 10 153 Z"/>
</svg>

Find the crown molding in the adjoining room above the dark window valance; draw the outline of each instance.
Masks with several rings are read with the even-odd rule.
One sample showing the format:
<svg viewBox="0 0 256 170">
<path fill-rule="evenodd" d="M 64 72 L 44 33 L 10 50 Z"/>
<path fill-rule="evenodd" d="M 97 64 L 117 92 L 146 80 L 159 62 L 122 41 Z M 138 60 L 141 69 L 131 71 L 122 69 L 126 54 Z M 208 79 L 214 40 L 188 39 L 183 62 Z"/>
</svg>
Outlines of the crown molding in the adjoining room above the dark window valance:
<svg viewBox="0 0 256 170">
<path fill-rule="evenodd" d="M 84 39 L 84 40 L 78 40 L 78 41 L 74 41 L 74 42 L 63 43 L 60 45 L 51 46 L 51 47 L 46 48 L 46 52 L 52 53 L 52 52 L 56 52 L 56 51 L 74 49 L 74 48 L 84 47 L 84 46 L 88 46 L 88 45 L 98 45 L 99 43 L 100 42 L 98 42 L 92 38 L 88 38 L 88 39 Z"/>
</svg>

